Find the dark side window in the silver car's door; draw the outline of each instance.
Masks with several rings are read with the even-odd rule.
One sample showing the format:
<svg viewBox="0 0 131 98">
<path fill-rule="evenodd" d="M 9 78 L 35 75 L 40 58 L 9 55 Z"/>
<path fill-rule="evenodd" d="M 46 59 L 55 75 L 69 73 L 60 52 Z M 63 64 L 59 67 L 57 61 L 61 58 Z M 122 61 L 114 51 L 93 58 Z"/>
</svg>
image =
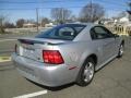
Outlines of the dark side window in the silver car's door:
<svg viewBox="0 0 131 98">
<path fill-rule="evenodd" d="M 91 29 L 91 37 L 93 39 L 105 39 L 112 37 L 112 34 L 103 26 L 95 26 Z"/>
</svg>

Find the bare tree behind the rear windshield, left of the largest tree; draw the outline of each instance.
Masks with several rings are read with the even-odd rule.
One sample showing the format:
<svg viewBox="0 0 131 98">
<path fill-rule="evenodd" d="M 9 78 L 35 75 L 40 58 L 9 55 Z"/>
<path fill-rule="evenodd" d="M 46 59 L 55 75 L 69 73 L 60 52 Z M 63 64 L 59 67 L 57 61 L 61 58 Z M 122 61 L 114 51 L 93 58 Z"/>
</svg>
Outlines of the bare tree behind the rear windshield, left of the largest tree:
<svg viewBox="0 0 131 98">
<path fill-rule="evenodd" d="M 71 16 L 71 11 L 64 8 L 53 8 L 51 10 L 51 17 L 60 24 L 63 24 Z"/>
</svg>

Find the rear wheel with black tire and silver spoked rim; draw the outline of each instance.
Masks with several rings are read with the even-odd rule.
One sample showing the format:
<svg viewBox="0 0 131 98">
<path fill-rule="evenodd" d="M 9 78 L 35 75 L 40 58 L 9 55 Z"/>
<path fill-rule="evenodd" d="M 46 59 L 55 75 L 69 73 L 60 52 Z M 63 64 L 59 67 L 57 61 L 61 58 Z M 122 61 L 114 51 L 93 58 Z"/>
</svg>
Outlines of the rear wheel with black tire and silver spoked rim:
<svg viewBox="0 0 131 98">
<path fill-rule="evenodd" d="M 80 86 L 88 85 L 94 77 L 94 73 L 95 73 L 95 62 L 92 58 L 88 58 L 80 70 L 76 79 L 78 85 Z"/>
</svg>

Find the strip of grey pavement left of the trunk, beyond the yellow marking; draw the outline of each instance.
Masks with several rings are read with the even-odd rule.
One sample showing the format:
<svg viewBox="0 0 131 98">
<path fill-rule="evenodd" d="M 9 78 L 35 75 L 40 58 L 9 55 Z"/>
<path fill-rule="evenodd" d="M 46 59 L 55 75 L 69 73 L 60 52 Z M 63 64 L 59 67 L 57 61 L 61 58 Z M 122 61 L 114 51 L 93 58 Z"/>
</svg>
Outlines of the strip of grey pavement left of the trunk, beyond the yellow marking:
<svg viewBox="0 0 131 98">
<path fill-rule="evenodd" d="M 4 34 L 0 35 L 0 56 L 10 56 L 14 51 L 14 45 L 19 37 L 32 37 L 37 33 L 20 33 L 20 34 Z"/>
</svg>

